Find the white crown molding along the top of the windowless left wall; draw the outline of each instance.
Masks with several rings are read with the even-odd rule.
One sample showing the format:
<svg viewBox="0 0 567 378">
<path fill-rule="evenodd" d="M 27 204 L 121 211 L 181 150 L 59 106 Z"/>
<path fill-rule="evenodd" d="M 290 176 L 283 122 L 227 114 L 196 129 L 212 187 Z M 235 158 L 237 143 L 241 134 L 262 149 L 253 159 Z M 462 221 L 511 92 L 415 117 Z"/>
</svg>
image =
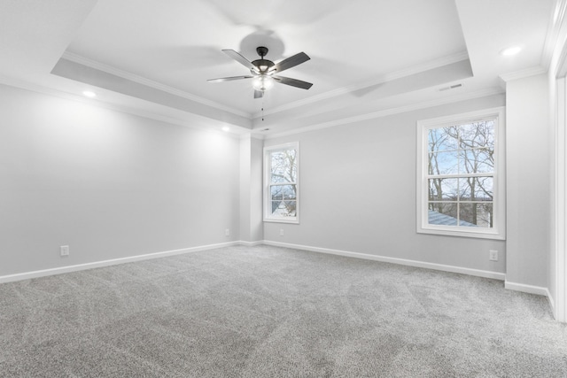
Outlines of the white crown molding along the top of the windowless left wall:
<svg viewBox="0 0 567 378">
<path fill-rule="evenodd" d="M 99 108 L 103 108 L 103 109 L 110 110 L 110 111 L 113 111 L 113 112 L 123 112 L 123 113 L 127 113 L 127 114 L 130 114 L 130 115 L 143 117 L 143 118 L 149 119 L 149 120 L 157 120 L 157 121 L 160 121 L 160 122 L 165 122 L 165 123 L 170 124 L 170 125 L 189 127 L 189 128 L 200 130 L 200 131 L 214 132 L 214 133 L 219 133 L 219 134 L 223 134 L 223 135 L 235 135 L 235 137 L 237 137 L 237 134 L 230 134 L 230 133 L 222 132 L 221 131 L 221 121 L 214 121 L 214 122 L 219 124 L 218 129 L 215 129 L 214 127 L 211 127 L 211 126 L 199 126 L 199 125 L 205 124 L 205 123 L 210 125 L 212 120 L 209 119 L 209 118 L 206 118 L 204 116 L 200 116 L 198 114 L 194 114 L 194 113 L 190 113 L 190 112 L 185 112 L 185 113 L 190 115 L 190 118 L 191 118 L 192 121 L 194 121 L 194 123 L 191 122 L 190 120 L 177 120 L 173 117 L 167 117 L 167 116 L 164 116 L 164 115 L 157 114 L 155 112 L 144 112 L 140 109 L 130 108 L 130 107 L 124 106 L 124 105 L 106 103 L 104 101 L 100 101 L 100 100 L 97 100 L 97 99 L 86 98 L 84 96 L 76 95 L 74 93 L 68 93 L 68 92 L 64 92 L 62 90 L 52 89 L 50 87 L 45 87 L 45 86 L 38 85 L 38 84 L 29 82 L 29 81 L 21 81 L 19 79 L 9 78 L 9 77 L 3 76 L 3 75 L 0 75 L 0 85 L 6 85 L 6 86 L 9 86 L 9 87 L 14 87 L 14 88 L 18 88 L 18 89 L 25 89 L 25 90 L 29 90 L 31 92 L 40 93 L 42 95 L 55 96 L 55 97 L 58 97 L 58 98 L 69 100 L 69 101 L 76 101 L 76 102 L 82 103 L 82 104 L 89 104 L 91 106 L 97 106 Z M 206 122 L 203 122 L 203 121 L 206 121 Z M 237 127 L 237 126 L 230 125 L 230 127 Z"/>
</svg>

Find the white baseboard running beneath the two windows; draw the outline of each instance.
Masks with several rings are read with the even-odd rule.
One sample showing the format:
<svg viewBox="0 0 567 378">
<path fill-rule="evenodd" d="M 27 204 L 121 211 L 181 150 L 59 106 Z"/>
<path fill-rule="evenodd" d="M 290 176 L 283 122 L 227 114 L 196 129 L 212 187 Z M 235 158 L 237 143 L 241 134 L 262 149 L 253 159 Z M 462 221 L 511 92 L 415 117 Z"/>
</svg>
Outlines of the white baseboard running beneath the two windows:
<svg viewBox="0 0 567 378">
<path fill-rule="evenodd" d="M 426 269 L 441 270 L 441 271 L 444 271 L 444 272 L 451 272 L 451 273 L 458 273 L 458 274 L 469 274 L 469 275 L 474 275 L 474 276 L 477 276 L 477 277 L 492 278 L 493 280 L 504 281 L 506 279 L 506 274 L 503 274 L 503 273 L 490 272 L 490 271 L 478 270 L 478 269 L 470 269 L 470 268 L 461 267 L 461 266 L 448 266 L 448 265 L 434 264 L 434 263 L 428 263 L 428 262 L 417 261 L 417 260 L 409 260 L 409 259 L 406 259 L 406 258 L 389 258 L 389 257 L 385 257 L 385 256 L 369 255 L 368 253 L 330 250 L 330 249 L 327 249 L 327 248 L 310 247 L 310 246 L 307 246 L 307 245 L 272 242 L 272 241 L 269 241 L 269 240 L 264 240 L 263 243 L 267 244 L 267 245 L 273 245 L 273 246 L 276 246 L 276 247 L 292 248 L 292 249 L 295 249 L 295 250 L 329 253 L 331 255 L 346 256 L 346 257 L 349 257 L 349 258 L 364 258 L 364 259 L 368 259 L 368 260 L 381 261 L 381 262 L 384 262 L 384 263 L 399 264 L 399 265 L 404 265 L 404 266 L 423 267 L 423 268 L 426 268 Z"/>
</svg>

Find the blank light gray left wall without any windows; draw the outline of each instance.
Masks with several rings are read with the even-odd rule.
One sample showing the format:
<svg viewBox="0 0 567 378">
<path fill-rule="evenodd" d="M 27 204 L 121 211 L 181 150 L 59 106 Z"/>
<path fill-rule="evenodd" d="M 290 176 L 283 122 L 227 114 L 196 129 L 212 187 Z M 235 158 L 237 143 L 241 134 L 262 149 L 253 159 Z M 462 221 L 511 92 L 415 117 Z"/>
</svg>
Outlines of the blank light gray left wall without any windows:
<svg viewBox="0 0 567 378">
<path fill-rule="evenodd" d="M 6 86 L 0 104 L 0 276 L 238 240 L 238 139 Z"/>
</svg>

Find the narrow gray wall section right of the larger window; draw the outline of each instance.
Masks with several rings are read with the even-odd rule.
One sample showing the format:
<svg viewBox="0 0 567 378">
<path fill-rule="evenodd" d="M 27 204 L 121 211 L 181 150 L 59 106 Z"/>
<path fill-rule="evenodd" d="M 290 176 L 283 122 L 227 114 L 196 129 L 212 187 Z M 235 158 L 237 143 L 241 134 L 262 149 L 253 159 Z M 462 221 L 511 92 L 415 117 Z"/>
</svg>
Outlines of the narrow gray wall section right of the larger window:
<svg viewBox="0 0 567 378">
<path fill-rule="evenodd" d="M 548 287 L 551 120 L 546 74 L 509 81 L 506 281 Z"/>
</svg>

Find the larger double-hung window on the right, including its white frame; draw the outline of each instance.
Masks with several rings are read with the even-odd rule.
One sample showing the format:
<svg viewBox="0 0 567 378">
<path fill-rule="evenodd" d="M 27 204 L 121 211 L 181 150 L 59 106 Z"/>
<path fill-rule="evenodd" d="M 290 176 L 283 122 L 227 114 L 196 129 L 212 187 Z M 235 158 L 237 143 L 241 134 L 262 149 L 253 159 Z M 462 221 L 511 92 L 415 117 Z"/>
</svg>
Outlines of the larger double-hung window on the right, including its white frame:
<svg viewBox="0 0 567 378">
<path fill-rule="evenodd" d="M 417 122 L 417 232 L 504 239 L 502 108 Z"/>
</svg>

